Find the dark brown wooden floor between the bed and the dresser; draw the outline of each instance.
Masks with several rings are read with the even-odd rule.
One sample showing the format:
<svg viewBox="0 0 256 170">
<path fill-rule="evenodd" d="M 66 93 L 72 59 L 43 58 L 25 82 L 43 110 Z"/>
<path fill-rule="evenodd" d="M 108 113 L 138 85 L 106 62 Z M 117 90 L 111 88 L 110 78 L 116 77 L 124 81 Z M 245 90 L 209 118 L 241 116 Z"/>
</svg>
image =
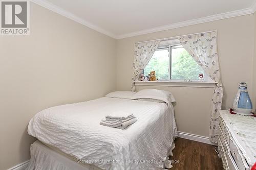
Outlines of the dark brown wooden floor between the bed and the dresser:
<svg viewBox="0 0 256 170">
<path fill-rule="evenodd" d="M 221 158 L 215 152 L 215 147 L 206 143 L 176 138 L 173 150 L 174 156 L 169 157 L 169 159 L 173 161 L 179 160 L 179 163 L 172 163 L 173 167 L 170 170 L 222 170 Z"/>
</svg>

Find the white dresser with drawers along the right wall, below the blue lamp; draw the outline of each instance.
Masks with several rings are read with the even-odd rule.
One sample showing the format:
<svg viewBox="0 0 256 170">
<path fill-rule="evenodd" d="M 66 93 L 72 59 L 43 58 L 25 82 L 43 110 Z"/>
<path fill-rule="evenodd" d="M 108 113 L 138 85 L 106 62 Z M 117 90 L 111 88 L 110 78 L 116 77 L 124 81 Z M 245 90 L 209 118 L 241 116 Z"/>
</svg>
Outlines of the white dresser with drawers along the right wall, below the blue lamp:
<svg viewBox="0 0 256 170">
<path fill-rule="evenodd" d="M 250 169 L 256 161 L 256 117 L 220 111 L 218 151 L 224 169 Z"/>
</svg>

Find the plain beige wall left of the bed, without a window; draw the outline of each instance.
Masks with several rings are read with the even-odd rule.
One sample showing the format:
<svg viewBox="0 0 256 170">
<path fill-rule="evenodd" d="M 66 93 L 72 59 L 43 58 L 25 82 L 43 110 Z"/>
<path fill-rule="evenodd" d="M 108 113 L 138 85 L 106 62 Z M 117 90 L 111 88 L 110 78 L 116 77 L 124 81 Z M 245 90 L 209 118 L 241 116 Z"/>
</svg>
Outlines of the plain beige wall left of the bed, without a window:
<svg viewBox="0 0 256 170">
<path fill-rule="evenodd" d="M 0 169 L 29 159 L 30 118 L 116 88 L 116 40 L 31 3 L 31 35 L 0 37 Z"/>
</svg>

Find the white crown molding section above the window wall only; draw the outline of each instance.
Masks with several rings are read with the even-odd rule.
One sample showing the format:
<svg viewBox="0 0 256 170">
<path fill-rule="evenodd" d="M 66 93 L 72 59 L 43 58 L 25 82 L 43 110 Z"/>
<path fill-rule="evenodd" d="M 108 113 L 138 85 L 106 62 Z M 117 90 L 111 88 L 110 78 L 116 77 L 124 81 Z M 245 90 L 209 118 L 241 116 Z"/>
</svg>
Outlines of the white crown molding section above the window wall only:
<svg viewBox="0 0 256 170">
<path fill-rule="evenodd" d="M 256 10 L 256 4 L 253 4 L 253 6 L 255 7 L 255 10 Z M 231 11 L 231 12 L 221 13 L 221 14 L 217 14 L 217 15 L 211 15 L 211 16 L 207 16 L 207 17 L 192 19 L 192 20 L 186 20 L 186 21 L 182 21 L 182 22 L 172 23 L 170 25 L 155 27 L 152 29 L 146 29 L 146 30 L 141 30 L 138 32 L 132 32 L 132 33 L 128 33 L 128 34 L 118 35 L 116 38 L 122 39 L 122 38 L 134 37 L 134 36 L 148 34 L 148 33 L 155 33 L 155 32 L 169 30 L 169 29 L 175 29 L 175 28 L 180 28 L 180 27 L 185 27 L 185 26 L 196 25 L 198 23 L 205 23 L 205 22 L 226 19 L 226 18 L 231 18 L 231 17 L 236 17 L 236 16 L 248 15 L 248 14 L 254 13 L 255 10 L 253 10 L 252 8 L 246 8 L 246 9 L 242 9 L 242 10 Z"/>
</svg>

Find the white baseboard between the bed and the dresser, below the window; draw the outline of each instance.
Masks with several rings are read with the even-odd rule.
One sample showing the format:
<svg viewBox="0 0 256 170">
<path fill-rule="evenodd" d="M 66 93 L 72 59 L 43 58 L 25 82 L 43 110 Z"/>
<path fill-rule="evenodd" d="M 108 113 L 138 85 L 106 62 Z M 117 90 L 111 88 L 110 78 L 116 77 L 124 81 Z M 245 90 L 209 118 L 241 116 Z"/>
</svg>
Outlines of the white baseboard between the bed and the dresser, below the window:
<svg viewBox="0 0 256 170">
<path fill-rule="evenodd" d="M 194 141 L 198 141 L 198 142 L 202 142 L 202 143 L 218 145 L 217 143 L 212 143 L 209 140 L 209 137 L 206 137 L 206 136 L 200 136 L 200 135 L 195 135 L 195 134 L 190 134 L 190 133 L 185 133 L 185 132 L 178 132 L 178 137 L 184 138 L 184 139 L 189 139 L 189 140 L 194 140 Z"/>
</svg>

